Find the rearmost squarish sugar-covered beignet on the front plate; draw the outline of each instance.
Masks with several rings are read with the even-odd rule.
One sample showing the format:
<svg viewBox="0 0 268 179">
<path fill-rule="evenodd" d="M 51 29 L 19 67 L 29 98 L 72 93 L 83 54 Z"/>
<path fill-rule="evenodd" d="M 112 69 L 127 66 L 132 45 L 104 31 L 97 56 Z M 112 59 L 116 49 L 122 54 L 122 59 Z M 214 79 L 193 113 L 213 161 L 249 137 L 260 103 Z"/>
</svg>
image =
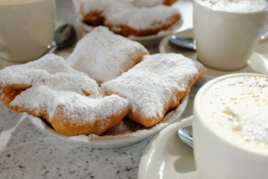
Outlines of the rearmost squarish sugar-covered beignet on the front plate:
<svg viewBox="0 0 268 179">
<path fill-rule="evenodd" d="M 142 60 L 148 50 L 99 26 L 76 45 L 67 62 L 99 83 L 115 79 Z"/>
</svg>

